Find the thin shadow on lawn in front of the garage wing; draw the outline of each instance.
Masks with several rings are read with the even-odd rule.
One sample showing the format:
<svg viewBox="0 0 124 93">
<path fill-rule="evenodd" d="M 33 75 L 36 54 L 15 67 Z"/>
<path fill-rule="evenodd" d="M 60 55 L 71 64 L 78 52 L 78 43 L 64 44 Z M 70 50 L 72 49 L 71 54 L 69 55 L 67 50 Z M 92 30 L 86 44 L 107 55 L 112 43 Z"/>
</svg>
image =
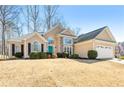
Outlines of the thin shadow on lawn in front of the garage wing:
<svg viewBox="0 0 124 93">
<path fill-rule="evenodd" d="M 93 63 L 97 63 L 97 62 L 107 61 L 110 59 L 94 59 L 94 60 L 92 60 L 92 59 L 80 58 L 80 59 L 72 59 L 72 60 L 75 60 L 80 63 L 93 64 Z"/>
</svg>

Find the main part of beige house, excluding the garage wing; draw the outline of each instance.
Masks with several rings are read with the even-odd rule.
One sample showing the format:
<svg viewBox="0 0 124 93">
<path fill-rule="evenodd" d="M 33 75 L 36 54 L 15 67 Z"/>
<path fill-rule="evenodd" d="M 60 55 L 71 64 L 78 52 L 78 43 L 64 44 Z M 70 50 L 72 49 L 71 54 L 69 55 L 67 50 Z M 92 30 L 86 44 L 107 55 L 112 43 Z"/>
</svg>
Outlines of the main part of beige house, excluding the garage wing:
<svg viewBox="0 0 124 93">
<path fill-rule="evenodd" d="M 31 52 L 49 52 L 54 55 L 58 52 L 66 52 L 71 55 L 75 38 L 73 31 L 58 24 L 44 36 L 33 32 L 18 38 L 11 38 L 6 41 L 6 50 L 10 58 L 14 57 L 17 52 L 21 52 L 24 58 L 28 58 Z"/>
</svg>

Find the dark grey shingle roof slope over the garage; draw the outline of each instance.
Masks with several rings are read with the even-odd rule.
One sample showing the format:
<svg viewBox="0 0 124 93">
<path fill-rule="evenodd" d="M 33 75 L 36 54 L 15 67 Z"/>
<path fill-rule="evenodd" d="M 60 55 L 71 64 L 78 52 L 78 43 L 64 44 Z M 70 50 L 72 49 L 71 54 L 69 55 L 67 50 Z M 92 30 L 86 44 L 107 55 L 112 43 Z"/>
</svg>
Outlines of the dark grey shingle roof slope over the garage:
<svg viewBox="0 0 124 93">
<path fill-rule="evenodd" d="M 88 33 L 86 33 L 86 34 L 82 34 L 82 35 L 78 36 L 78 38 L 77 38 L 77 40 L 76 40 L 75 42 L 77 43 L 77 42 L 81 42 L 81 41 L 86 41 L 86 40 L 93 39 L 93 38 L 95 38 L 99 33 L 101 33 L 105 28 L 107 28 L 107 26 L 104 26 L 104 27 L 99 28 L 99 29 L 97 29 L 97 30 L 88 32 Z"/>
</svg>

